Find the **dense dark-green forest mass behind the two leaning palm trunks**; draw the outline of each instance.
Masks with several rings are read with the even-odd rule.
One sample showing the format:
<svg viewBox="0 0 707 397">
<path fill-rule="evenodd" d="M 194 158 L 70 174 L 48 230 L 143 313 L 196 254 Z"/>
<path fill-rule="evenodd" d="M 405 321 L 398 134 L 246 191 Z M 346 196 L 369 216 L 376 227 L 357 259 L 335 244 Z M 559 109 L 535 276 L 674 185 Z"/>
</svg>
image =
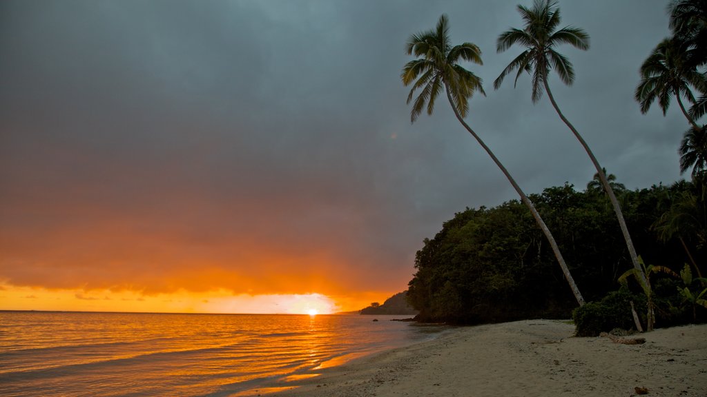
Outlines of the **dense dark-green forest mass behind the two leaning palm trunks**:
<svg viewBox="0 0 707 397">
<path fill-rule="evenodd" d="M 674 273 L 690 263 L 693 272 L 699 271 L 694 264 L 704 263 L 707 255 L 703 180 L 636 191 L 614 184 L 633 242 L 646 262 L 672 268 Z M 566 184 L 531 199 L 556 235 L 587 300 L 599 302 L 619 290 L 617 280 L 632 268 L 631 259 L 604 192 L 591 182 L 584 191 Z M 419 310 L 421 321 L 477 324 L 541 316 L 569 318 L 577 306 L 547 240 L 518 201 L 455 214 L 433 239 L 424 240 L 415 267 L 407 297 Z M 691 305 L 681 297 L 682 280 L 658 274 L 651 276 L 650 283 L 658 326 L 689 321 L 693 312 L 696 320 L 705 318 L 699 304 Z M 695 297 L 701 285 L 695 280 L 688 286 Z M 635 280 L 628 280 L 624 288 L 636 296 L 642 293 Z M 637 304 L 640 300 L 636 298 Z M 627 309 L 617 315 L 624 318 Z M 645 320 L 643 309 L 641 316 Z"/>
</svg>

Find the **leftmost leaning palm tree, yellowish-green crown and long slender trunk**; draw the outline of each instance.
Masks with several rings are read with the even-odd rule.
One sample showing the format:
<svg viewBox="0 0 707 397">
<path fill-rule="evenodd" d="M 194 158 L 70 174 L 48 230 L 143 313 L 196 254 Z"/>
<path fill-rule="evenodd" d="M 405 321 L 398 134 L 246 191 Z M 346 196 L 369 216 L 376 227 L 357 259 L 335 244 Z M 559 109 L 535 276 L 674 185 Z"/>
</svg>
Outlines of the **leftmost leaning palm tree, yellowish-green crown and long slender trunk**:
<svg viewBox="0 0 707 397">
<path fill-rule="evenodd" d="M 405 64 L 400 75 L 405 86 L 412 84 L 407 97 L 407 103 L 413 102 L 410 112 L 411 122 L 415 122 L 423 109 L 427 110 L 427 114 L 432 114 L 437 97 L 442 90 L 446 91 L 447 99 L 452 105 L 452 110 L 454 110 L 457 120 L 469 131 L 469 134 L 472 134 L 479 145 L 486 150 L 486 153 L 491 156 L 493 162 L 496 163 L 501 172 L 506 175 L 510 184 L 513 185 L 515 191 L 518 192 L 521 201 L 530 209 L 538 226 L 549 240 L 575 299 L 582 306 L 584 298 L 580 294 L 547 225 L 545 225 L 530 199 L 527 198 L 520 186 L 510 176 L 506 167 L 503 167 L 501 161 L 496 158 L 489 146 L 486 146 L 486 143 L 481 140 L 469 124 L 464 122 L 464 117 L 467 116 L 469 111 L 469 98 L 474 95 L 474 92 L 484 95 L 485 93 L 484 88 L 481 86 L 481 78 L 462 68 L 457 62 L 463 59 L 464 61 L 481 65 L 481 50 L 479 47 L 469 42 L 452 47 L 449 37 L 449 21 L 447 16 L 442 15 L 436 29 L 411 35 L 405 48 L 408 55 L 414 54 L 415 57 L 421 57 Z M 413 101 L 416 90 L 421 91 Z"/>
</svg>

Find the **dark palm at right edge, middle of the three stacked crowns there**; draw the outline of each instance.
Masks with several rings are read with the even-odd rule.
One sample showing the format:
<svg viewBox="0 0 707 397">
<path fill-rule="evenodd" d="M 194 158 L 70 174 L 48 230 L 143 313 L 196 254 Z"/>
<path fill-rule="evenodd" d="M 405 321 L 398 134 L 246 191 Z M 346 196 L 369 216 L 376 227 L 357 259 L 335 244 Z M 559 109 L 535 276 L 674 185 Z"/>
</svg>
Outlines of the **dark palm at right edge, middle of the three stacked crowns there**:
<svg viewBox="0 0 707 397">
<path fill-rule="evenodd" d="M 646 113 L 658 100 L 663 115 L 670 107 L 674 96 L 685 118 L 696 131 L 700 129 L 695 119 L 685 109 L 682 97 L 696 102 L 691 87 L 703 90 L 705 77 L 697 71 L 690 60 L 689 45 L 678 37 L 668 37 L 653 49 L 641 65 L 641 83 L 636 87 L 636 100 L 641 104 L 641 112 Z"/>
</svg>

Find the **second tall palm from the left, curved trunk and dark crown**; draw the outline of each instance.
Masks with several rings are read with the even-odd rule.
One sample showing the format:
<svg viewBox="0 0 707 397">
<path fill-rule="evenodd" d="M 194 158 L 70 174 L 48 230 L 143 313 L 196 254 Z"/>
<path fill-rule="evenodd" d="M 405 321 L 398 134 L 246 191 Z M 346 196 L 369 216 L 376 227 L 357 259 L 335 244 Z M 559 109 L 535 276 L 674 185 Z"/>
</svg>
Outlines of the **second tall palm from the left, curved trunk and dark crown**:
<svg viewBox="0 0 707 397">
<path fill-rule="evenodd" d="M 543 90 L 547 92 L 547 97 L 549 97 L 560 119 L 562 119 L 566 126 L 572 131 L 597 169 L 597 174 L 599 174 L 604 190 L 607 192 L 609 200 L 614 207 L 614 212 L 617 214 L 621 232 L 624 235 L 624 239 L 626 239 L 626 247 L 629 249 L 633 268 L 636 269 L 639 277 L 645 280 L 643 268 L 638 261 L 638 254 L 636 254 L 636 249 L 633 247 L 629 228 L 626 227 L 624 214 L 621 213 L 621 206 L 614 194 L 614 189 L 612 189 L 611 184 L 609 184 L 609 180 L 602 171 L 599 161 L 594 153 L 592 153 L 592 150 L 589 148 L 584 138 L 582 138 L 577 129 L 575 129 L 571 122 L 569 122 L 560 111 L 548 84 L 550 69 L 554 69 L 560 77 L 560 80 L 566 85 L 571 85 L 574 81 L 575 75 L 572 63 L 563 54 L 556 52 L 556 45 L 568 44 L 575 48 L 586 50 L 589 49 L 589 35 L 584 30 L 571 26 L 556 30 L 560 23 L 560 9 L 556 1 L 535 0 L 532 8 L 519 5 L 518 12 L 525 21 L 523 29 L 510 28 L 506 30 L 506 32 L 501 33 L 496 42 L 496 50 L 503 52 L 515 44 L 525 47 L 525 50 L 521 52 L 518 57 L 515 57 L 515 59 L 506 66 L 506 69 L 503 69 L 501 75 L 493 82 L 493 88 L 498 89 L 501 87 L 503 78 L 505 78 L 508 73 L 518 69 L 518 73 L 515 75 L 516 83 L 524 71 L 530 74 L 532 78 L 533 103 L 540 100 Z"/>
</svg>

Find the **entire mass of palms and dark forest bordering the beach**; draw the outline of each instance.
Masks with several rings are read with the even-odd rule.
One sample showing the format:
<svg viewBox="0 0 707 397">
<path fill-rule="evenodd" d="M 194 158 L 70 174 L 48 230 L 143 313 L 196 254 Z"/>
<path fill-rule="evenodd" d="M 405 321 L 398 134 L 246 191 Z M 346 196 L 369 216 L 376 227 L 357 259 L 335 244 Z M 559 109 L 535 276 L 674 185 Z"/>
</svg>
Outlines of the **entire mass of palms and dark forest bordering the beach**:
<svg viewBox="0 0 707 397">
<path fill-rule="evenodd" d="M 690 180 L 634 191 L 600 167 L 550 90 L 551 71 L 566 85 L 575 79 L 571 61 L 556 47 L 587 50 L 589 35 L 572 26 L 560 28 L 556 1 L 534 0 L 518 11 L 522 29 L 501 33 L 496 47 L 498 52 L 514 45 L 523 50 L 501 71 L 494 87 L 510 73 L 515 73 L 515 82 L 528 73 L 532 102 L 547 94 L 597 173 L 583 191 L 565 184 L 539 194 L 523 193 L 464 119 L 469 98 L 485 93 L 481 78 L 460 61 L 481 65 L 479 47 L 470 42 L 452 46 L 446 16 L 436 29 L 411 35 L 407 54 L 418 59 L 409 61 L 401 74 L 404 85 L 411 85 L 411 121 L 423 111 L 432 114 L 444 91 L 457 120 L 520 196 L 520 201 L 456 213 L 432 239 L 424 240 L 407 292 L 407 301 L 419 311 L 416 319 L 478 324 L 573 316 L 580 336 L 615 327 L 641 329 L 643 324 L 650 331 L 654 325 L 707 321 L 707 278 L 701 268 L 707 259 L 707 128 L 701 123 L 707 113 L 707 1 L 670 2 L 672 35 L 639 68 L 634 93 L 643 113 L 658 102 L 667 114 L 672 99 L 678 103 L 689 129 L 679 142 L 676 167 L 691 171 Z M 570 290 L 563 287 L 566 283 Z"/>
</svg>

